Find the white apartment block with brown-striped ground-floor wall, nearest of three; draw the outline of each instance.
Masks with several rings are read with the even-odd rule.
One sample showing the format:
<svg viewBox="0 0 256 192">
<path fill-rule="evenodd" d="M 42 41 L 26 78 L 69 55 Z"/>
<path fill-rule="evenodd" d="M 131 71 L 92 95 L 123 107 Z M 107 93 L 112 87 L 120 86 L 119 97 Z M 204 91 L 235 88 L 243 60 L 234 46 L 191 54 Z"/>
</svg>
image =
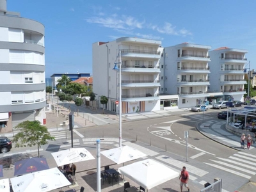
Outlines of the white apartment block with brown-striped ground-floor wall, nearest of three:
<svg viewBox="0 0 256 192">
<path fill-rule="evenodd" d="M 108 97 L 107 109 L 116 111 L 120 75 L 113 67 L 121 63 L 118 67 L 122 74 L 122 113 L 159 110 L 162 53 L 161 41 L 157 40 L 124 37 L 113 42 L 96 42 L 93 44 L 93 92 L 98 97 Z"/>
</svg>

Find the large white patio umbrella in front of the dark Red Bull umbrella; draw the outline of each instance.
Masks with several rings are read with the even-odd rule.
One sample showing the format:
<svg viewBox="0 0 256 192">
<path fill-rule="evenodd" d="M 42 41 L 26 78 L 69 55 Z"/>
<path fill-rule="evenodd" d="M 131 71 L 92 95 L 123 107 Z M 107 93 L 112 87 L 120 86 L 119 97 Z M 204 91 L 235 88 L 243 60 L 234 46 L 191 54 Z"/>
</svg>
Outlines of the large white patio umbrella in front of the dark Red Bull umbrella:
<svg viewBox="0 0 256 192">
<path fill-rule="evenodd" d="M 71 184 L 58 168 L 29 173 L 10 180 L 14 192 L 51 191 Z"/>
</svg>

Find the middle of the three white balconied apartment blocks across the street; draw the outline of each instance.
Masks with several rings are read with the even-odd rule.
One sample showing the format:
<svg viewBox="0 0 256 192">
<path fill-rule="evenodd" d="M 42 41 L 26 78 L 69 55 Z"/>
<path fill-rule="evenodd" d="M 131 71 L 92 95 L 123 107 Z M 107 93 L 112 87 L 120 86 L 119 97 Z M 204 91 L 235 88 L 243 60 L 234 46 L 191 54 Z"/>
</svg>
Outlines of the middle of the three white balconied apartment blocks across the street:
<svg viewBox="0 0 256 192">
<path fill-rule="evenodd" d="M 222 93 L 209 93 L 209 61 L 211 46 L 179 44 L 164 47 L 161 59 L 160 93 L 164 109 L 172 106 L 189 108 L 209 103 L 210 97 Z M 168 96 L 167 96 L 168 95 Z M 173 97 L 174 96 L 174 97 Z"/>
</svg>

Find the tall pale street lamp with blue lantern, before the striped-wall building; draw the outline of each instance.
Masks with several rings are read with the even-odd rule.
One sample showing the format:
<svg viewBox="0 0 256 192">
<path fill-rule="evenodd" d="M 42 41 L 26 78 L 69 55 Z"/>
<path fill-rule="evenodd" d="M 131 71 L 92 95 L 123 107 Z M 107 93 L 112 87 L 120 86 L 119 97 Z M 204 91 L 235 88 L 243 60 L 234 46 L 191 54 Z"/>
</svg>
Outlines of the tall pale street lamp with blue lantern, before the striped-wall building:
<svg viewBox="0 0 256 192">
<path fill-rule="evenodd" d="M 121 87 L 121 49 L 119 49 L 119 62 L 115 63 L 113 70 L 118 72 L 118 67 L 116 64 L 119 64 L 119 147 L 122 147 L 122 87 Z"/>
</svg>

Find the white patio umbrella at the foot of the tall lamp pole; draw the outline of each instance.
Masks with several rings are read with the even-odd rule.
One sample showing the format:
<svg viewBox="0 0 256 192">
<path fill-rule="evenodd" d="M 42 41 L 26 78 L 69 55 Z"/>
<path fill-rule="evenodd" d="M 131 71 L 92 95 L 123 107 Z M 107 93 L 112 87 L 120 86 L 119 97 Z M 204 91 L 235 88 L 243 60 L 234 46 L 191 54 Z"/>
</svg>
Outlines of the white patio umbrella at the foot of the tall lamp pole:
<svg viewBox="0 0 256 192">
<path fill-rule="evenodd" d="M 143 152 L 140 152 L 140 150 L 129 147 L 127 145 L 125 145 L 123 147 L 111 148 L 109 150 L 104 150 L 100 153 L 102 155 L 108 157 L 109 159 L 111 159 L 112 161 L 114 161 L 117 164 L 124 163 L 127 161 L 132 161 L 134 159 L 139 159 L 140 157 L 147 156 L 146 154 L 143 154 Z"/>
</svg>

